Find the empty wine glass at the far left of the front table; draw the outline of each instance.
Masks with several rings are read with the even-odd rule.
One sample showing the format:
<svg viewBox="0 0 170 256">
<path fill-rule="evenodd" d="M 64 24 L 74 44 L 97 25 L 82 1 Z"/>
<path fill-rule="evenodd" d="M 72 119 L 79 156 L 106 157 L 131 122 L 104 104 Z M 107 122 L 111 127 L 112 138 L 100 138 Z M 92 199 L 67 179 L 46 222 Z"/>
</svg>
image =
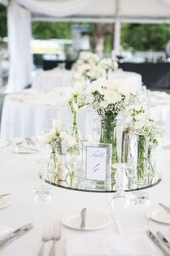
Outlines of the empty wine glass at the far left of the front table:
<svg viewBox="0 0 170 256">
<path fill-rule="evenodd" d="M 6 123 L 7 128 L 9 128 L 9 138 L 7 139 L 7 143 L 4 147 L 5 153 L 18 153 L 17 142 L 12 140 L 14 127 L 17 127 L 18 124 L 15 123 Z"/>
</svg>

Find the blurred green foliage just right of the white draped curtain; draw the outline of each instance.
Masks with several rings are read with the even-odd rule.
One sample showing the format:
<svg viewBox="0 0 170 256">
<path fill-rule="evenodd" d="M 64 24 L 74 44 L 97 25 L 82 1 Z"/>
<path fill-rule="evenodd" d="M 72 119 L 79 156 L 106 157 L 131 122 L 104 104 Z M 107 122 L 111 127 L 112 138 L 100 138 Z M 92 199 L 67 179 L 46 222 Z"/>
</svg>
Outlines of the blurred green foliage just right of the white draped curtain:
<svg viewBox="0 0 170 256">
<path fill-rule="evenodd" d="M 70 39 L 71 23 L 32 22 L 32 37 L 35 39 Z"/>
</svg>

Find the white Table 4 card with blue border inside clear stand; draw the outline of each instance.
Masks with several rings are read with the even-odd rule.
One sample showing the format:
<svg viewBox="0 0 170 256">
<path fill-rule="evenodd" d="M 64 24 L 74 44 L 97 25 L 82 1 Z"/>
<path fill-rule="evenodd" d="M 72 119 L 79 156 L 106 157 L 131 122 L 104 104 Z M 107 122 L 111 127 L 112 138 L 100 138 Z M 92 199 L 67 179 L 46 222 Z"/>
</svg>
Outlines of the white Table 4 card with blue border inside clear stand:
<svg viewBox="0 0 170 256">
<path fill-rule="evenodd" d="M 86 179 L 107 180 L 107 148 L 86 147 Z"/>
</svg>

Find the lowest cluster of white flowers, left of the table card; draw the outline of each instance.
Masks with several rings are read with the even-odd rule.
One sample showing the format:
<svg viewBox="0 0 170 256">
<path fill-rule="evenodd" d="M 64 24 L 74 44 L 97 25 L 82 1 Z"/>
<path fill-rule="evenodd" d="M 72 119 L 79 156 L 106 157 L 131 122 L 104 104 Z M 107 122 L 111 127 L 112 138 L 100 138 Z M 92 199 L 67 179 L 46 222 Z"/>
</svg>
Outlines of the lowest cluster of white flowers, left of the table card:
<svg viewBox="0 0 170 256">
<path fill-rule="evenodd" d="M 76 137 L 69 134 L 64 124 L 58 119 L 53 120 L 52 129 L 45 133 L 42 139 L 45 143 L 56 148 L 58 154 L 70 153 L 72 155 L 79 150 Z"/>
</svg>

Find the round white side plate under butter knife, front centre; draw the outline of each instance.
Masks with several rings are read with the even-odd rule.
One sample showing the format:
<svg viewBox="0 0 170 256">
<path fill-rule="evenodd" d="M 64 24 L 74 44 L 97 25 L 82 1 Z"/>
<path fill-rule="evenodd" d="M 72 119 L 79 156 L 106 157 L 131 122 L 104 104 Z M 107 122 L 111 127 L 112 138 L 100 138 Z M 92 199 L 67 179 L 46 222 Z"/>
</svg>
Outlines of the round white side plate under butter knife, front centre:
<svg viewBox="0 0 170 256">
<path fill-rule="evenodd" d="M 93 213 L 86 211 L 86 226 L 83 230 L 95 230 L 102 229 L 105 226 L 109 225 L 109 217 L 104 213 Z M 76 213 L 73 215 L 64 216 L 61 219 L 61 222 L 64 226 L 68 226 L 71 229 L 79 229 L 81 230 L 81 216 L 80 213 Z"/>
</svg>

